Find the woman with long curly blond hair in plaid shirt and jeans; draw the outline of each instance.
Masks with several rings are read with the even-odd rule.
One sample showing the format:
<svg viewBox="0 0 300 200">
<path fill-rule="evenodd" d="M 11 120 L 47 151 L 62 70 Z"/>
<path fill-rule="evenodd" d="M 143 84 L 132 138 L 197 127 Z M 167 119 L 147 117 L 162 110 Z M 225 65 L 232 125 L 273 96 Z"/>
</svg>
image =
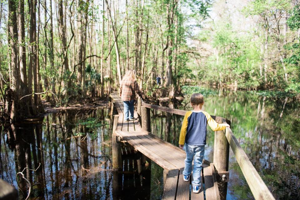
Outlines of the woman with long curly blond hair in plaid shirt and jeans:
<svg viewBox="0 0 300 200">
<path fill-rule="evenodd" d="M 138 82 L 135 80 L 135 71 L 128 70 L 120 83 L 120 97 L 124 102 L 124 120 L 131 121 L 136 120 L 134 118 L 134 100 L 135 93 L 137 93 L 142 99 L 142 93 L 138 87 Z M 129 118 L 129 112 L 130 118 Z"/>
</svg>

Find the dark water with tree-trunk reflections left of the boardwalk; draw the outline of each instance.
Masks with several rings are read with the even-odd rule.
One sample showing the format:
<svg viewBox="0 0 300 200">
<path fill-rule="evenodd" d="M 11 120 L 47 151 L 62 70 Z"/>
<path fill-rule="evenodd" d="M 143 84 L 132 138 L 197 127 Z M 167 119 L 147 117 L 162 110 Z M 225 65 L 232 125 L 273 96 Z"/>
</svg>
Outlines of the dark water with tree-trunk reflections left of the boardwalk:
<svg viewBox="0 0 300 200">
<path fill-rule="evenodd" d="M 159 199 L 163 169 L 122 146 L 123 170 L 113 171 L 109 110 L 53 113 L 36 123 L 0 130 L 0 178 L 30 199 Z M 41 165 L 39 166 L 39 163 Z M 32 171 L 29 169 L 36 169 Z"/>
</svg>

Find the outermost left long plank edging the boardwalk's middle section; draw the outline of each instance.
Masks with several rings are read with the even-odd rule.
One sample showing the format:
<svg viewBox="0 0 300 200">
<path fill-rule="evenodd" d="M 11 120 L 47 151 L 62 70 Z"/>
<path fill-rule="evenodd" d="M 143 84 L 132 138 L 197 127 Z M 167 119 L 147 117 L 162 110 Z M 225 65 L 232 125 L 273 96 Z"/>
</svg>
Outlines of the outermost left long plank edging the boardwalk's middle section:
<svg viewBox="0 0 300 200">
<path fill-rule="evenodd" d="M 138 138 L 136 136 L 133 136 L 132 133 L 129 133 L 128 131 L 116 131 L 116 134 L 118 134 L 121 138 L 126 140 L 128 144 L 133 146 L 133 148 L 137 149 L 139 152 L 147 156 L 149 159 L 153 160 L 155 163 L 157 163 L 164 169 L 176 169 L 176 166 L 174 166 L 172 163 L 169 163 L 167 160 L 163 159 L 152 150 L 141 145 L 138 142 Z"/>
</svg>

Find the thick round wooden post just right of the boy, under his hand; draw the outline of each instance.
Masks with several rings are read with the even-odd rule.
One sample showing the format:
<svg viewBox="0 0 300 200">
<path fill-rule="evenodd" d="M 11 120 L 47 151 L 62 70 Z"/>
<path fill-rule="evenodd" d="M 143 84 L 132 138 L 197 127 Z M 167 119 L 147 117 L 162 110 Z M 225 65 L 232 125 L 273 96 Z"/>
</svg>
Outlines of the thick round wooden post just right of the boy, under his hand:
<svg viewBox="0 0 300 200">
<path fill-rule="evenodd" d="M 226 123 L 224 120 L 223 123 Z M 213 145 L 213 165 L 218 172 L 228 171 L 229 143 L 223 130 L 215 131 Z M 229 177 L 227 177 L 228 179 Z M 221 200 L 226 200 L 227 182 L 218 182 Z"/>
</svg>

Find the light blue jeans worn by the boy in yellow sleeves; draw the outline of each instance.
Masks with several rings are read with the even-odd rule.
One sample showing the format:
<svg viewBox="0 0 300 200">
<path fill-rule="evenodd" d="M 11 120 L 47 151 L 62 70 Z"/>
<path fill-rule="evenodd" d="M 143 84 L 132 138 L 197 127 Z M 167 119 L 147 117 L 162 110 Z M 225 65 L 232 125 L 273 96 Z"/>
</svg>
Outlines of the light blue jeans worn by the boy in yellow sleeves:
<svg viewBox="0 0 300 200">
<path fill-rule="evenodd" d="M 204 147 L 185 144 L 185 152 L 187 154 L 186 159 L 184 160 L 185 167 L 183 170 L 183 175 L 189 176 L 192 172 L 192 161 L 194 159 L 194 169 L 193 169 L 193 181 L 192 185 L 200 185 L 201 180 L 201 170 L 202 170 L 202 161 L 204 156 Z"/>
</svg>

